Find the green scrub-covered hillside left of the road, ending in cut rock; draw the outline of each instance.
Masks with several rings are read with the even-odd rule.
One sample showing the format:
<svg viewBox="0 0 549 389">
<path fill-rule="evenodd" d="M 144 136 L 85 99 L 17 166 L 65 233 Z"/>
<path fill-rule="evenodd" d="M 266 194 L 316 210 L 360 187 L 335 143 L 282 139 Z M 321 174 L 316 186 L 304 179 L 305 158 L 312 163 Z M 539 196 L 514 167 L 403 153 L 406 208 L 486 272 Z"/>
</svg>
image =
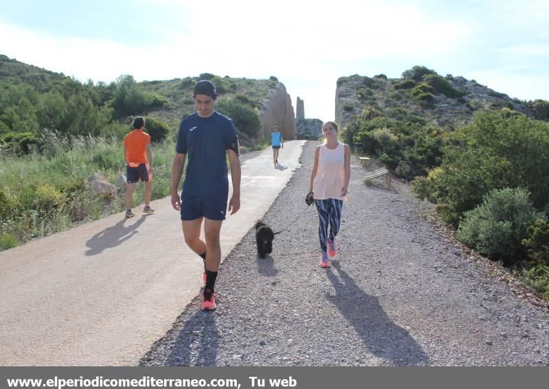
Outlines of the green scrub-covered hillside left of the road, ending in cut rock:
<svg viewBox="0 0 549 389">
<path fill-rule="evenodd" d="M 220 95 L 218 102 L 221 103 L 218 107 L 222 113 L 222 106 L 229 106 L 232 112 L 242 114 L 240 123 L 243 125 L 254 120 L 256 123 L 261 121 L 259 131 L 255 128 L 251 138 L 242 133 L 244 140 L 250 143 L 261 141 L 270 134 L 272 126 L 278 126 L 285 139 L 296 139 L 292 99 L 285 86 L 274 76 L 267 80 L 253 80 L 201 73 L 172 80 L 136 82 L 132 75 L 121 75 L 110 84 L 94 84 L 91 81 L 82 84 L 62 73 L 25 64 L 1 54 L 0 113 L 13 115 L 0 115 L 0 135 L 8 132 L 39 134 L 43 128 L 69 134 L 99 134 L 101 128 L 106 128 L 106 124 L 113 119 L 127 123 L 128 117 L 136 115 L 159 119 L 173 133 L 178 129 L 181 119 L 194 112 L 192 93 L 198 80 L 211 80 L 217 86 Z M 32 103 L 31 110 L 26 108 L 28 102 Z M 45 123 L 43 117 L 47 116 L 46 111 L 51 111 L 51 105 L 59 111 L 59 115 L 55 114 L 54 117 L 60 117 L 67 110 L 63 108 L 65 105 L 74 108 L 72 116 L 101 110 L 101 121 L 88 117 L 81 120 L 100 122 L 97 125 L 100 128 L 94 131 L 75 129 L 71 128 L 71 123 L 61 126 L 57 122 L 60 119 Z M 113 108 L 112 115 L 108 112 L 109 108 Z"/>
</svg>

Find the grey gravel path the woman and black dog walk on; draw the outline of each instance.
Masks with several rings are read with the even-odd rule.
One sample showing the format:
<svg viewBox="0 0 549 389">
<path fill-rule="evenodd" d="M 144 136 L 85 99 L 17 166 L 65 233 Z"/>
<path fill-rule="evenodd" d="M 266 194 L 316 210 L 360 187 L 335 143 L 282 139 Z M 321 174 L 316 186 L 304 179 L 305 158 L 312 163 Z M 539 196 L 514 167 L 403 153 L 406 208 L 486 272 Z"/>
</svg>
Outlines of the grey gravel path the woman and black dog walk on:
<svg viewBox="0 0 549 389">
<path fill-rule="evenodd" d="M 195 298 L 141 365 L 549 366 L 548 309 L 433 228 L 430 204 L 362 184 L 355 160 L 338 255 L 321 269 L 316 210 L 291 223 L 317 144 L 264 217 L 291 224 L 272 257 L 257 259 L 250 230 L 222 263 L 218 309 Z"/>
</svg>

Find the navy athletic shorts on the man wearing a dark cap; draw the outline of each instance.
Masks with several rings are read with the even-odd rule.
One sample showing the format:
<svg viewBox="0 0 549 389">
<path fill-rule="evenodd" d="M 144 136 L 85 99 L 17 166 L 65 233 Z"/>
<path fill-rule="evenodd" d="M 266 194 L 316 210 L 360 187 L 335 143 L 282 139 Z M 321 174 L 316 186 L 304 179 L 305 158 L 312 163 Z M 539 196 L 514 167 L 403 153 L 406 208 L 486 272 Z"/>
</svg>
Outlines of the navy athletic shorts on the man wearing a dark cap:
<svg viewBox="0 0 549 389">
<path fill-rule="evenodd" d="M 206 217 L 209 220 L 225 220 L 227 193 L 213 196 L 181 196 L 181 220 L 196 220 Z"/>
</svg>

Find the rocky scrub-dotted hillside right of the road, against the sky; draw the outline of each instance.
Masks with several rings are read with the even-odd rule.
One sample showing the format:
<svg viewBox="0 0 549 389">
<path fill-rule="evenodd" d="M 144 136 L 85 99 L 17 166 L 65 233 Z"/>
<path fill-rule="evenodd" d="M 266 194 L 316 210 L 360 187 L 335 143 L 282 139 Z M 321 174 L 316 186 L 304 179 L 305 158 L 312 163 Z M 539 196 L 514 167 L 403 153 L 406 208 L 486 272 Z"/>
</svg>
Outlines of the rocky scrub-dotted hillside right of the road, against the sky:
<svg viewBox="0 0 549 389">
<path fill-rule="evenodd" d="M 536 102 L 547 103 L 543 100 Z M 546 104 L 542 105 L 546 109 Z M 367 107 L 382 111 L 389 117 L 400 117 L 406 110 L 448 128 L 471 122 L 476 110 L 509 108 L 529 117 L 544 119 L 539 117 L 533 102 L 528 104 L 513 99 L 476 80 L 453 75 L 443 77 L 425 67 L 404 71 L 401 78 L 387 78 L 383 74 L 373 78 L 363 75 L 339 78 L 336 121 L 340 126 L 346 126 L 353 115 L 360 114 Z"/>
</svg>

